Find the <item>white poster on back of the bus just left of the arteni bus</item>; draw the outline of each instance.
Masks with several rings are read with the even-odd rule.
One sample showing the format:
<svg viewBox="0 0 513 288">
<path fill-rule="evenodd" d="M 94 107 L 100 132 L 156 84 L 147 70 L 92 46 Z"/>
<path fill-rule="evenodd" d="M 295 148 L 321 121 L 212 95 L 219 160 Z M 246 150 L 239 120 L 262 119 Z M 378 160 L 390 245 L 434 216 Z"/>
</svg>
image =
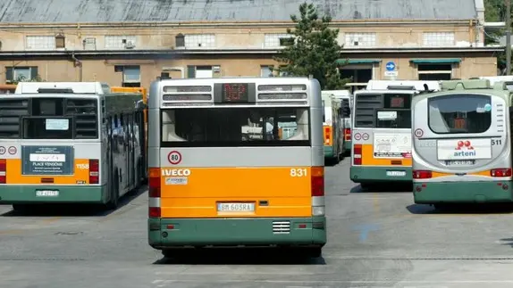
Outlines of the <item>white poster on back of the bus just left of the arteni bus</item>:
<svg viewBox="0 0 513 288">
<path fill-rule="evenodd" d="M 374 158 L 411 158 L 411 134 L 374 134 Z"/>
</svg>

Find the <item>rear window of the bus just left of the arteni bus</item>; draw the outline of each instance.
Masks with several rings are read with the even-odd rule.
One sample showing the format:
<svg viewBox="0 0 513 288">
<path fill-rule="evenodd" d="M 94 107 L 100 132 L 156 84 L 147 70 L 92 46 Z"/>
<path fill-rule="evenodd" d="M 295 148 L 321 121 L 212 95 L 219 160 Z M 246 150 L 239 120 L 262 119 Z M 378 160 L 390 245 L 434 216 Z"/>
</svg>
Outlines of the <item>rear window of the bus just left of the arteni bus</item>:
<svg viewBox="0 0 513 288">
<path fill-rule="evenodd" d="M 411 128 L 411 94 L 357 95 L 355 127 Z"/>
</svg>

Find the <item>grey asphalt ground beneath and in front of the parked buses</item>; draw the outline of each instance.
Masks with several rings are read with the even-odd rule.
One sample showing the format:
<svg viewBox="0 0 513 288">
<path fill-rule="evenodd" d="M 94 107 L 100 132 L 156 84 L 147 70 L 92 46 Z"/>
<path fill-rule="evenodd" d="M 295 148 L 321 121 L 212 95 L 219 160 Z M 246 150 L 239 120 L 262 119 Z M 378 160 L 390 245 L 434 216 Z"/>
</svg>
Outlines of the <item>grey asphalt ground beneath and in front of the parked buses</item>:
<svg viewBox="0 0 513 288">
<path fill-rule="evenodd" d="M 0 287 L 513 287 L 511 206 L 438 211 L 399 188 L 361 191 L 349 159 L 325 173 L 322 258 L 219 250 L 164 259 L 147 245 L 141 189 L 108 212 L 0 206 Z"/>
</svg>

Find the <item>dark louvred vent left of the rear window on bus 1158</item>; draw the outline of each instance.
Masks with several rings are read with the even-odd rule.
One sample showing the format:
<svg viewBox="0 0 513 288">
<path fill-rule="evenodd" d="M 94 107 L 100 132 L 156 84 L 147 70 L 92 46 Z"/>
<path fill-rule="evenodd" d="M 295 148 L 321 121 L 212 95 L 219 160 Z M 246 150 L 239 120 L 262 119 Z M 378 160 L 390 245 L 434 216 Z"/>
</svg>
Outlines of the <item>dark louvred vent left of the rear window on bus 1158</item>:
<svg viewBox="0 0 513 288">
<path fill-rule="evenodd" d="M 20 117 L 27 115 L 29 115 L 28 99 L 0 100 L 0 138 L 19 138 Z"/>
</svg>

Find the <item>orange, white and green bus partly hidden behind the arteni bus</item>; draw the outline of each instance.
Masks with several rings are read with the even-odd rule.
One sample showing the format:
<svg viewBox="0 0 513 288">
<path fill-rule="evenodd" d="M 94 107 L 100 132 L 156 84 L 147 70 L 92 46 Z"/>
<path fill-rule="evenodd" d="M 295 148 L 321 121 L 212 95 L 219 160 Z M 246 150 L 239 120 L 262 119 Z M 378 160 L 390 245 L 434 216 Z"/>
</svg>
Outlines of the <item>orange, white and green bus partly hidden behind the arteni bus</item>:
<svg viewBox="0 0 513 288">
<path fill-rule="evenodd" d="M 426 86 L 426 87 L 425 87 Z M 350 178 L 363 188 L 411 183 L 411 102 L 434 81 L 369 81 L 355 92 Z"/>
</svg>

